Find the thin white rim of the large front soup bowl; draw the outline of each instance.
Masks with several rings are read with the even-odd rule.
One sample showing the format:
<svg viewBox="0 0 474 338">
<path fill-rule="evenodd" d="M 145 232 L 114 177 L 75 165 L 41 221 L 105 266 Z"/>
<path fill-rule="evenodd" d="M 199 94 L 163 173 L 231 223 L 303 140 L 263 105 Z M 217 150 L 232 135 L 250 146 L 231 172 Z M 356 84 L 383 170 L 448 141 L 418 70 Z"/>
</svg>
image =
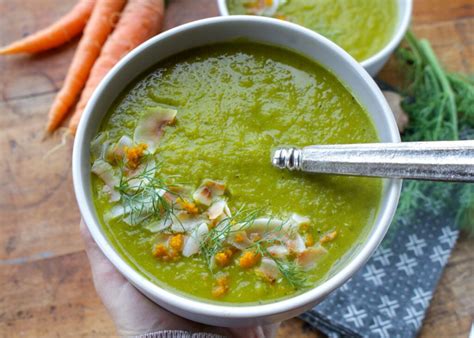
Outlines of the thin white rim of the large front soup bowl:
<svg viewBox="0 0 474 338">
<path fill-rule="evenodd" d="M 257 23 L 263 23 L 268 25 L 281 25 L 285 26 L 284 29 L 290 29 L 296 31 L 295 33 L 310 35 L 312 39 L 317 40 L 319 43 L 326 45 L 325 47 L 329 49 L 336 50 L 340 54 L 341 58 L 344 59 L 343 62 L 348 62 L 351 67 L 353 67 L 363 82 L 366 82 L 370 87 L 371 91 L 377 97 L 379 103 L 384 107 L 383 115 L 388 119 L 387 128 L 389 129 L 389 137 L 392 142 L 400 142 L 400 135 L 396 127 L 396 123 L 393 115 L 386 116 L 387 112 L 391 112 L 388 103 L 383 97 L 382 92 L 366 72 L 366 70 L 355 61 L 349 54 L 347 54 L 342 48 L 337 46 L 335 43 L 331 42 L 327 38 L 313 32 L 302 26 L 283 22 L 277 19 L 257 17 L 257 16 L 228 16 L 228 17 L 213 17 L 202 19 L 194 22 L 190 22 L 175 28 L 172 28 L 168 31 L 165 31 L 154 38 L 144 42 L 129 54 L 127 54 L 122 60 L 120 60 L 113 68 L 108 72 L 104 79 L 100 82 L 96 90 L 94 91 L 91 99 L 89 100 L 83 117 L 79 123 L 76 137 L 74 140 L 73 147 L 73 156 L 72 156 L 72 174 L 73 174 L 73 184 L 76 199 L 78 206 L 84 220 L 84 223 L 88 227 L 93 239 L 109 259 L 109 261 L 124 275 L 133 285 L 138 289 L 144 291 L 148 295 L 152 295 L 154 299 L 158 299 L 163 304 L 170 306 L 174 309 L 181 309 L 186 313 L 197 314 L 201 316 L 209 317 L 218 317 L 218 318 L 228 318 L 228 319 L 248 319 L 248 318 L 261 318 L 272 315 L 277 315 L 283 312 L 288 312 L 297 308 L 302 308 L 307 306 L 309 303 L 314 303 L 315 300 L 322 299 L 330 292 L 334 291 L 340 285 L 342 285 L 346 280 L 348 280 L 354 273 L 356 273 L 363 264 L 370 258 L 372 253 L 375 251 L 377 246 L 382 241 L 385 233 L 387 232 L 393 215 L 396 211 L 398 198 L 401 189 L 401 180 L 399 179 L 390 179 L 386 183 L 386 207 L 381 208 L 378 212 L 379 222 L 374 223 L 369 234 L 367 235 L 367 240 L 365 245 L 361 248 L 360 252 L 357 255 L 352 257 L 346 266 L 341 270 L 335 273 L 332 277 L 328 278 L 322 284 L 309 289 L 301 294 L 297 294 L 290 298 L 276 300 L 274 302 L 269 302 L 266 304 L 255 304 L 255 305 L 239 305 L 239 304 L 215 304 L 210 303 L 206 300 L 200 300 L 198 298 L 192 298 L 184 294 L 175 293 L 172 290 L 162 288 L 161 286 L 153 283 L 143 276 L 140 272 L 135 270 L 129 263 L 127 263 L 120 254 L 113 248 L 112 244 L 106 238 L 105 234 L 101 231 L 100 222 L 95 219 L 95 210 L 92 207 L 89 207 L 89 194 L 90 187 L 87 186 L 86 182 L 83 180 L 83 175 L 90 175 L 90 163 L 83 163 L 83 153 L 88 147 L 85 146 L 83 141 L 86 135 L 88 128 L 92 128 L 92 125 L 89 125 L 89 120 L 94 112 L 94 106 L 99 101 L 99 98 L 106 94 L 105 90 L 108 86 L 108 83 L 113 79 L 116 73 L 120 72 L 121 69 L 126 65 L 130 60 L 137 57 L 144 50 L 148 49 L 152 45 L 159 43 L 161 40 L 168 39 L 174 34 L 181 33 L 187 30 L 193 30 L 201 26 L 219 24 L 223 21 L 227 22 L 248 22 L 253 21 Z M 138 74 L 137 74 L 138 76 Z M 131 79 L 132 81 L 133 79 Z M 380 130 L 378 130 L 380 131 Z M 86 158 L 89 158 L 88 156 Z M 169 308 L 168 308 L 169 309 Z"/>
</svg>

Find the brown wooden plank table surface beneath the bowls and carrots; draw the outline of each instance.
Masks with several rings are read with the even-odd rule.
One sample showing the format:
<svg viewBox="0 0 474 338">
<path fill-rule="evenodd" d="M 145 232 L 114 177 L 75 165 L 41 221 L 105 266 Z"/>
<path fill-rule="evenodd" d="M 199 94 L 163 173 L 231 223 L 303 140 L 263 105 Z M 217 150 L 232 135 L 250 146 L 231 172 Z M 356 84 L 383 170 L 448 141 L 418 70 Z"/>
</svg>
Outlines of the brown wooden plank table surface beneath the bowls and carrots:
<svg viewBox="0 0 474 338">
<path fill-rule="evenodd" d="M 0 0 L 0 45 L 44 27 L 76 0 Z M 217 15 L 215 0 L 172 0 L 166 28 Z M 444 65 L 474 70 L 473 0 L 415 0 L 413 29 Z M 42 140 L 77 40 L 37 56 L 0 58 L 0 336 L 112 336 L 91 282 L 71 180 L 71 139 Z M 383 78 L 396 81 L 393 63 Z M 423 337 L 466 337 L 474 317 L 473 240 L 458 242 Z M 320 336 L 298 319 L 281 337 Z"/>
</svg>

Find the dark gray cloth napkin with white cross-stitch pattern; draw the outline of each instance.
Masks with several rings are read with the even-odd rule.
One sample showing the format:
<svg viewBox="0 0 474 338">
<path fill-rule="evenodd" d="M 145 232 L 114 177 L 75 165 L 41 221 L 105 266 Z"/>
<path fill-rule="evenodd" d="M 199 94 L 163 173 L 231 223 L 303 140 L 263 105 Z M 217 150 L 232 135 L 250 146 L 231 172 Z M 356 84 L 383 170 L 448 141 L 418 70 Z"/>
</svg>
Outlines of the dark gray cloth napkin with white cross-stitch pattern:
<svg viewBox="0 0 474 338">
<path fill-rule="evenodd" d="M 459 234 L 448 204 L 397 218 L 367 264 L 301 318 L 329 337 L 415 337 Z"/>
</svg>

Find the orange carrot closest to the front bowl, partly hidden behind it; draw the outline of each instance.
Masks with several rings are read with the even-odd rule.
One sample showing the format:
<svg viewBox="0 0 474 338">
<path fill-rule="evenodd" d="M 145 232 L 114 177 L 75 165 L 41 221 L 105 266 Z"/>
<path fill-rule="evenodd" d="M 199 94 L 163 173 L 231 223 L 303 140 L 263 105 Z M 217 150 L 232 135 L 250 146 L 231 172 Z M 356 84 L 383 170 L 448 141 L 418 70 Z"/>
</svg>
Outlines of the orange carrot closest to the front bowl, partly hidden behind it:
<svg viewBox="0 0 474 338">
<path fill-rule="evenodd" d="M 129 0 L 117 27 L 102 48 L 82 91 L 69 123 L 72 134 L 76 132 L 82 111 L 100 80 L 125 54 L 161 30 L 163 14 L 163 0 Z"/>
</svg>

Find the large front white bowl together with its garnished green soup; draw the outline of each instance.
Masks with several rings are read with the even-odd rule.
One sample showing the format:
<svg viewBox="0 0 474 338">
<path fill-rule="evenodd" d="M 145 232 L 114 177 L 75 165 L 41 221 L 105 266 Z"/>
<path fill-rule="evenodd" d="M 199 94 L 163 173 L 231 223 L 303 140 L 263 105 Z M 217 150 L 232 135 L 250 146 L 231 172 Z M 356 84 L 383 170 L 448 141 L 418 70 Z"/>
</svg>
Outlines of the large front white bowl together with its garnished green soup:
<svg viewBox="0 0 474 338">
<path fill-rule="evenodd" d="M 74 185 L 94 239 L 140 291 L 192 320 L 248 326 L 349 278 L 400 189 L 279 172 L 271 148 L 378 140 L 399 141 L 391 111 L 332 42 L 272 19 L 207 19 L 104 79 L 76 136 Z"/>
</svg>

